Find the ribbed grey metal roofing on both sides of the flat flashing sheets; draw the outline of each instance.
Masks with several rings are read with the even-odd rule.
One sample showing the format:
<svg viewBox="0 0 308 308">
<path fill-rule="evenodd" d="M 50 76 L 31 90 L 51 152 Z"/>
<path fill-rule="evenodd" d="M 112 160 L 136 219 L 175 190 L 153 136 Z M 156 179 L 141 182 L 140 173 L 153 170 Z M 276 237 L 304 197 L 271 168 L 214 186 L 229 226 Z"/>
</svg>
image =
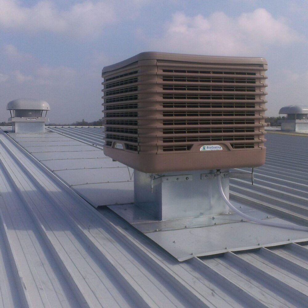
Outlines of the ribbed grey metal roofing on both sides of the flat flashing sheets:
<svg viewBox="0 0 308 308">
<path fill-rule="evenodd" d="M 266 137 L 255 184 L 232 180 L 231 200 L 307 224 L 308 138 Z M 42 158 L 67 153 L 39 147 Z M 68 155 L 102 152 L 91 148 Z M 307 242 L 179 262 L 107 207 L 98 212 L 1 130 L 0 162 L 0 307 L 308 305 Z"/>
</svg>

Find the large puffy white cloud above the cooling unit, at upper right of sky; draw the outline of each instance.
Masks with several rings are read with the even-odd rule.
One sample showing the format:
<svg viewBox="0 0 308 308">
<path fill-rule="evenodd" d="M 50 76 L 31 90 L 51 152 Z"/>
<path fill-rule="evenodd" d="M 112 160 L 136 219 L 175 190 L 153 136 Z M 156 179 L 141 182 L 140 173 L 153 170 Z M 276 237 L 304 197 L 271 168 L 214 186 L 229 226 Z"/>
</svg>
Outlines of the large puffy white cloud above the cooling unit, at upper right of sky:
<svg viewBox="0 0 308 308">
<path fill-rule="evenodd" d="M 212 55 L 256 55 L 270 45 L 286 45 L 303 38 L 284 20 L 257 9 L 237 18 L 216 12 L 209 17 L 173 14 L 164 34 L 150 40 L 152 49 Z"/>
</svg>

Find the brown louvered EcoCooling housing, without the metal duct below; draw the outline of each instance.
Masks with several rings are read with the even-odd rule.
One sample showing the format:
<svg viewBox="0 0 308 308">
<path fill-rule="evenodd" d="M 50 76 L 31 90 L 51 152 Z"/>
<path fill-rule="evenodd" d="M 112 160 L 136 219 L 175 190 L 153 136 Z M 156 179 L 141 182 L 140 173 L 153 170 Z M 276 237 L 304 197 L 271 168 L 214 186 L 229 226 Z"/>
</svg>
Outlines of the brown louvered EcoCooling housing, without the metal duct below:
<svg viewBox="0 0 308 308">
<path fill-rule="evenodd" d="M 144 172 L 260 165 L 266 68 L 261 58 L 165 53 L 104 68 L 104 152 Z M 201 152 L 213 144 L 221 150 Z"/>
</svg>

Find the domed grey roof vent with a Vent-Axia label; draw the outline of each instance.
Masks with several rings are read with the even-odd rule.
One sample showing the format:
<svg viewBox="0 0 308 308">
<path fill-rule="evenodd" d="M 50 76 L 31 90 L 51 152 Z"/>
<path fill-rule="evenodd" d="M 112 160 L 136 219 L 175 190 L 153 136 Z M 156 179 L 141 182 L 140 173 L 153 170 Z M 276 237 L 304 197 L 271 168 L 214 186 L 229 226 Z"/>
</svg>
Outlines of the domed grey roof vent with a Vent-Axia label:
<svg viewBox="0 0 308 308">
<path fill-rule="evenodd" d="M 45 132 L 45 122 L 49 121 L 46 115 L 50 110 L 47 102 L 37 99 L 15 99 L 7 104 L 6 109 L 10 110 L 9 122 L 12 122 L 13 132 Z"/>
</svg>

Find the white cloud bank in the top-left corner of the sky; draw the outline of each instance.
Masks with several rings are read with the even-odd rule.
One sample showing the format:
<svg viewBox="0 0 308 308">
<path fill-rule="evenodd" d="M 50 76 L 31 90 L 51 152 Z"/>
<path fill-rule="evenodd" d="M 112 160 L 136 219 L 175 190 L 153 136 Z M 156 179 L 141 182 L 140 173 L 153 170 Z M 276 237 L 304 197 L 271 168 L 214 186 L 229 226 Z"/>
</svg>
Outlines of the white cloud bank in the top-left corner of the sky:
<svg viewBox="0 0 308 308">
<path fill-rule="evenodd" d="M 0 26 L 8 29 L 87 36 L 99 33 L 115 20 L 115 10 L 107 1 L 84 1 L 64 11 L 51 1 L 25 7 L 15 0 L 0 0 Z"/>
</svg>

